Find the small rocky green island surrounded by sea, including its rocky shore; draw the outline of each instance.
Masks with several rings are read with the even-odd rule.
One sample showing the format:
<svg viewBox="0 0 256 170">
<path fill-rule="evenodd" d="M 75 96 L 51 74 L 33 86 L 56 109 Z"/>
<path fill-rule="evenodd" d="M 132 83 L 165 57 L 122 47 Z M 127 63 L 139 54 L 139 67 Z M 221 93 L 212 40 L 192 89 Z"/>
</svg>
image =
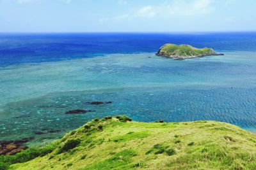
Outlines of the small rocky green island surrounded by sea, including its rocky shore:
<svg viewBox="0 0 256 170">
<path fill-rule="evenodd" d="M 212 48 L 195 48 L 191 45 L 165 44 L 159 48 L 157 56 L 172 58 L 177 60 L 192 59 L 196 57 L 205 57 L 212 55 L 224 55 L 216 53 Z"/>
</svg>

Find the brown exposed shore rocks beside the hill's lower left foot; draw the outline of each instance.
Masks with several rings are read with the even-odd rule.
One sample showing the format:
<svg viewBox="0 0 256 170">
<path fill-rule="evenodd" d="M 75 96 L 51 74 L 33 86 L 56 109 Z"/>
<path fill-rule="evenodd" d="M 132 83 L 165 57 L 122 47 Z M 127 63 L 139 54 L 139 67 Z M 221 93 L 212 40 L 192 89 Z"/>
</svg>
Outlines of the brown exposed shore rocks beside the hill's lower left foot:
<svg viewBox="0 0 256 170">
<path fill-rule="evenodd" d="M 0 141 L 0 155 L 14 155 L 15 153 L 19 153 L 22 150 L 26 150 L 28 149 L 28 146 L 20 145 L 33 139 L 35 138 L 23 138 L 17 141 Z"/>
</svg>

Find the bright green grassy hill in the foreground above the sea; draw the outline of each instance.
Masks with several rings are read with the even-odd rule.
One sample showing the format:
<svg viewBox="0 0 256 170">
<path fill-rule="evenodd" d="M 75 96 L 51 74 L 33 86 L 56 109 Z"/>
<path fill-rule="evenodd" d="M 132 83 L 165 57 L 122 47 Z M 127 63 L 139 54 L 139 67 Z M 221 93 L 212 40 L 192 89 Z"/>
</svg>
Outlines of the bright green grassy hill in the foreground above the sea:
<svg viewBox="0 0 256 170">
<path fill-rule="evenodd" d="M 10 169 L 256 169 L 256 135 L 215 121 L 106 117 L 1 161 L 12 164 Z"/>
</svg>

